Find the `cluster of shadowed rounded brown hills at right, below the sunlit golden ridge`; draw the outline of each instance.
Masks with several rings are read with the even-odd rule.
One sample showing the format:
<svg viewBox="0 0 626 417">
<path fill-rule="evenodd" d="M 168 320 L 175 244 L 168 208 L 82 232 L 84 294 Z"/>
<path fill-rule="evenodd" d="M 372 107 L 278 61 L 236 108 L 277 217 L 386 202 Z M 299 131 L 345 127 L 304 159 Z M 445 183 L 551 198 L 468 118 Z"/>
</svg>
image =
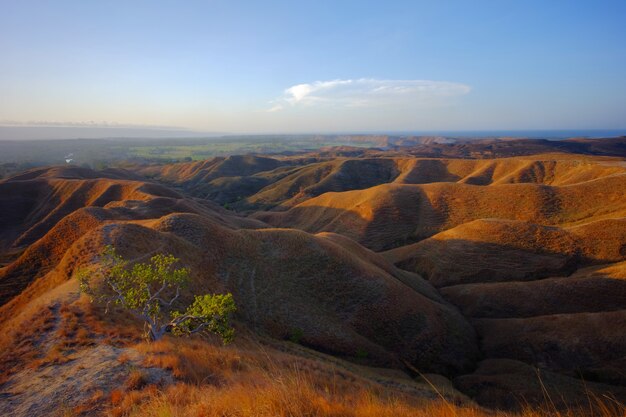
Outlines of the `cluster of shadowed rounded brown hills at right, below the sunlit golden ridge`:
<svg viewBox="0 0 626 417">
<path fill-rule="evenodd" d="M 476 220 L 385 257 L 470 317 L 486 357 L 623 385 L 625 226 Z"/>
</svg>

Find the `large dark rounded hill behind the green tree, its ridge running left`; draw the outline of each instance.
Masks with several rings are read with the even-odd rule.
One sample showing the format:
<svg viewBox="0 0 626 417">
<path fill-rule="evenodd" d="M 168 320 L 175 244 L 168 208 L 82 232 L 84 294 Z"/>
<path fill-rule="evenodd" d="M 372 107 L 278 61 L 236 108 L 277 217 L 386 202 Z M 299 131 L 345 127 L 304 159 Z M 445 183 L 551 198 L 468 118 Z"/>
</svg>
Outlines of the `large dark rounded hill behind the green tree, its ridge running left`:
<svg viewBox="0 0 626 417">
<path fill-rule="evenodd" d="M 131 210 L 114 202 L 74 207 L 67 221 L 1 271 L 5 302 L 21 292 L 4 313 L 15 314 L 70 278 L 80 260 L 93 260 L 103 245 L 114 244 L 131 257 L 157 250 L 179 255 L 192 270 L 203 271 L 196 285 L 232 291 L 241 318 L 275 337 L 302 333 L 307 345 L 346 356 L 363 350 L 387 366 L 407 360 L 448 373 L 472 365 L 476 353 L 467 352 L 475 343 L 473 330 L 419 276 L 382 258 L 372 264 L 333 239 L 280 229 L 235 232 L 201 210 L 167 214 L 150 203 L 136 201 Z M 64 246 L 53 243 L 60 236 Z M 397 323 L 405 327 L 399 331 Z M 457 329 L 458 339 L 443 337 L 450 328 Z"/>
</svg>

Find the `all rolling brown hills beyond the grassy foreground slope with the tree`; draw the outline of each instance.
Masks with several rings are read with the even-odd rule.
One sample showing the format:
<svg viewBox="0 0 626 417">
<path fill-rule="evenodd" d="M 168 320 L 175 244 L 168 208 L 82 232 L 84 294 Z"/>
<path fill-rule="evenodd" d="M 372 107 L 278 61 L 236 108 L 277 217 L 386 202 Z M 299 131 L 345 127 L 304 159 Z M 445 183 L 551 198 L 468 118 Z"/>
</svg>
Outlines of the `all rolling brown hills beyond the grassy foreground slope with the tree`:
<svg viewBox="0 0 626 417">
<path fill-rule="evenodd" d="M 70 297 L 75 271 L 113 244 L 136 260 L 180 257 L 194 271 L 184 301 L 231 291 L 250 332 L 446 374 L 482 404 L 510 407 L 511 390 L 539 399 L 534 367 L 564 403 L 583 379 L 626 397 L 623 161 L 408 153 L 58 167 L 2 181 L 0 323 L 18 328 Z"/>
</svg>

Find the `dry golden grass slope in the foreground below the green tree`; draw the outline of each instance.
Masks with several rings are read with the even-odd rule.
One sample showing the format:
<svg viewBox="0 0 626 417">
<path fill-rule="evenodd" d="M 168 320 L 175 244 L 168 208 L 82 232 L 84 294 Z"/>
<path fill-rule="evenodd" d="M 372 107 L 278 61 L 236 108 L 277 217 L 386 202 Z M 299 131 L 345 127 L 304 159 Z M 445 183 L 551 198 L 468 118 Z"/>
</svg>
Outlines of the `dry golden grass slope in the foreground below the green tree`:
<svg viewBox="0 0 626 417">
<path fill-rule="evenodd" d="M 520 413 L 490 411 L 446 398 L 398 391 L 319 361 L 240 343 L 222 347 L 199 340 L 140 344 L 147 363 L 170 369 L 178 382 L 125 389 L 110 396 L 112 417 L 598 417 L 623 416 L 626 408 L 589 396 L 586 409 L 545 407 Z M 132 376 L 129 379 L 139 378 Z"/>
</svg>

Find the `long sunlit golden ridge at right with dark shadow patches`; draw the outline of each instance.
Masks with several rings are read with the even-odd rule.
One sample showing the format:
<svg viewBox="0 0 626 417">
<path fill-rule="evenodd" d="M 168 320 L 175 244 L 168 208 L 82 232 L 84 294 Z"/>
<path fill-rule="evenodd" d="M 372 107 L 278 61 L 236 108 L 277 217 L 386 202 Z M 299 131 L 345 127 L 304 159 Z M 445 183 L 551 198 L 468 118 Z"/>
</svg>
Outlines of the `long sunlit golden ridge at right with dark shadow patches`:
<svg viewBox="0 0 626 417">
<path fill-rule="evenodd" d="M 287 211 L 258 212 L 252 217 L 275 227 L 340 233 L 378 251 L 476 219 L 572 226 L 624 217 L 624 184 L 623 174 L 563 186 L 387 183 L 327 192 Z"/>
</svg>

